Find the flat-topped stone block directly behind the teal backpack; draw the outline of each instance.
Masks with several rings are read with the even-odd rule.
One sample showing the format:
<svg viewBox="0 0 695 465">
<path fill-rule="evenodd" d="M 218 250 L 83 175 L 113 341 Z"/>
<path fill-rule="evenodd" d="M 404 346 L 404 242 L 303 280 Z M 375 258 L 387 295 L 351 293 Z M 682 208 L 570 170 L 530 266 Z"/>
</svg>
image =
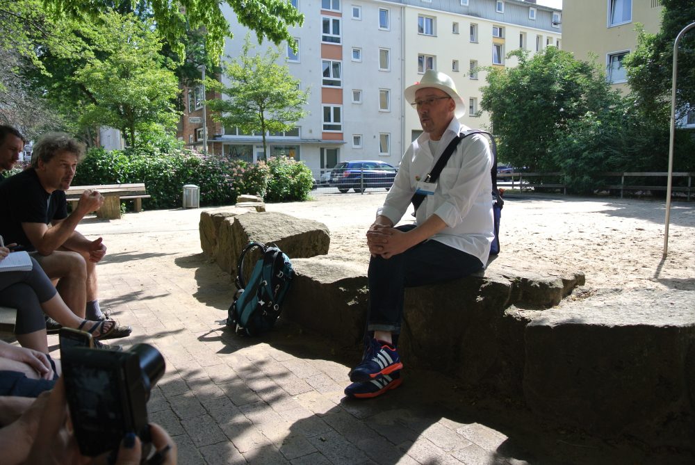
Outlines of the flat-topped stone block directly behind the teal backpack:
<svg viewBox="0 0 695 465">
<path fill-rule="evenodd" d="M 213 258 L 222 270 L 236 276 L 239 255 L 250 241 L 275 243 L 291 259 L 297 259 L 327 254 L 331 239 L 328 227 L 318 221 L 284 213 L 246 213 L 224 218 L 219 223 Z M 245 261 L 246 275 L 250 274 L 258 256 L 254 251 Z"/>
</svg>

